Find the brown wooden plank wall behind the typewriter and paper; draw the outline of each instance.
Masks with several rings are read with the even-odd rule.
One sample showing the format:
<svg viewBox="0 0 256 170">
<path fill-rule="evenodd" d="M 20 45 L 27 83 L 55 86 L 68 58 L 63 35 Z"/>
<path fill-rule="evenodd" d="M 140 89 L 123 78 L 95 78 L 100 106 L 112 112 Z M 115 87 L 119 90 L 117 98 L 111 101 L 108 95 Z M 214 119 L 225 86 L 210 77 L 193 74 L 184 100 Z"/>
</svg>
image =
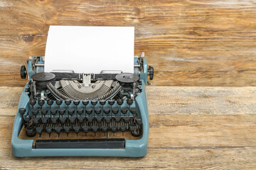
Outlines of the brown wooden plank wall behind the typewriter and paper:
<svg viewBox="0 0 256 170">
<path fill-rule="evenodd" d="M 134 26 L 155 86 L 256 85 L 256 1 L 0 1 L 0 86 L 26 83 L 50 25 Z"/>
</svg>

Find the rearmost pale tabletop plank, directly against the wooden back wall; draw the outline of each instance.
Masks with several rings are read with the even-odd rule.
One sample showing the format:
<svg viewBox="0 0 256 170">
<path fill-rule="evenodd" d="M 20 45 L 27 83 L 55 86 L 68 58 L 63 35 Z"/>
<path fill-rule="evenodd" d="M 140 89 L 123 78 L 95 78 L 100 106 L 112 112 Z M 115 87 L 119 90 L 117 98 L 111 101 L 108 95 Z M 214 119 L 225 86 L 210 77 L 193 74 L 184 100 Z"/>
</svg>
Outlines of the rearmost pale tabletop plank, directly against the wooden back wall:
<svg viewBox="0 0 256 170">
<path fill-rule="evenodd" d="M 0 115 L 16 114 L 21 87 L 0 87 Z M 255 87 L 147 86 L 150 115 L 255 114 Z"/>
</svg>

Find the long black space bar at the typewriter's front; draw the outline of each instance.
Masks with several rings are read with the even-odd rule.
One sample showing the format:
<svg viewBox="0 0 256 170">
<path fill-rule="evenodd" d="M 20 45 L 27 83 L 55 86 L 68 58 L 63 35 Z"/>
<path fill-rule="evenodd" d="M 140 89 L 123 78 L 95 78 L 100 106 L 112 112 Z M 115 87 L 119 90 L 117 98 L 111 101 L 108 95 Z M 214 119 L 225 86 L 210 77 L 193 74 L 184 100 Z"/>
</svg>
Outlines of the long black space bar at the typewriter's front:
<svg viewBox="0 0 256 170">
<path fill-rule="evenodd" d="M 82 139 L 82 140 L 36 140 L 36 149 L 63 148 L 124 148 L 124 138 L 117 139 Z"/>
</svg>

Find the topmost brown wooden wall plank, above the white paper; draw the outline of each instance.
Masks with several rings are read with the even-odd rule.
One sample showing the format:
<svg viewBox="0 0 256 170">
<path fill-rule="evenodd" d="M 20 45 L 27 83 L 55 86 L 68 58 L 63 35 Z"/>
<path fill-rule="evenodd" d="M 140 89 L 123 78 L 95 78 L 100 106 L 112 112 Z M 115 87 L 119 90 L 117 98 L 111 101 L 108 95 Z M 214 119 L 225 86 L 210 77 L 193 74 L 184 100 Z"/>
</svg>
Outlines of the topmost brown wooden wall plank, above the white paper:
<svg viewBox="0 0 256 170">
<path fill-rule="evenodd" d="M 214 28 L 224 32 L 232 28 L 228 32 L 232 36 L 248 30 L 254 35 L 250 32 L 255 29 L 254 23 L 253 1 L 2 1 L 0 33 L 42 35 L 47 34 L 49 25 L 159 26 L 156 28 L 168 28 L 171 33 L 181 28 L 187 36 L 212 38 L 218 35 Z M 188 27 L 194 29 L 186 32 Z M 205 31 L 197 30 L 198 27 Z M 144 35 L 160 34 L 149 30 Z"/>
</svg>

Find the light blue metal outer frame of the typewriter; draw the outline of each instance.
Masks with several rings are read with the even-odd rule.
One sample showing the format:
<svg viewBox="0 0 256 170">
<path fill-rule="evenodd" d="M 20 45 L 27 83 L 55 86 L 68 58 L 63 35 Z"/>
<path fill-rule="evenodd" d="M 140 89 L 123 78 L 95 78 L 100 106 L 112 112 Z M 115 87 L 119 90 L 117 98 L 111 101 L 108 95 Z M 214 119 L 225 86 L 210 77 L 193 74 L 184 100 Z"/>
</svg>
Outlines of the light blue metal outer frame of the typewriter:
<svg viewBox="0 0 256 170">
<path fill-rule="evenodd" d="M 31 59 L 32 60 L 28 60 L 27 63 L 28 82 L 30 81 L 31 75 L 34 74 L 31 67 L 34 57 Z M 42 57 L 39 57 L 39 59 L 40 60 L 37 63 L 39 67 L 37 69 L 42 70 L 44 62 Z M 125 140 L 125 147 L 122 149 L 36 149 L 33 148 L 33 140 L 22 140 L 18 137 L 23 127 L 23 123 L 21 115 L 17 110 L 11 137 L 12 154 L 16 157 L 144 157 L 147 153 L 147 140 L 149 135 L 149 115 L 145 92 L 148 77 L 148 64 L 145 57 L 134 57 L 134 66 L 140 64 L 139 60 L 142 61 L 143 67 L 143 72 L 140 72 L 138 71 L 139 69 L 137 69 L 139 77 L 142 80 L 142 85 L 140 86 L 142 92 L 136 97 L 136 107 L 141 113 L 143 129 L 142 137 L 139 140 Z M 134 70 L 135 69 L 136 68 L 134 67 Z M 26 108 L 28 110 L 29 98 L 26 94 L 26 89 L 28 89 L 29 86 L 29 84 L 26 84 L 24 87 L 18 103 L 18 108 Z"/>
</svg>

